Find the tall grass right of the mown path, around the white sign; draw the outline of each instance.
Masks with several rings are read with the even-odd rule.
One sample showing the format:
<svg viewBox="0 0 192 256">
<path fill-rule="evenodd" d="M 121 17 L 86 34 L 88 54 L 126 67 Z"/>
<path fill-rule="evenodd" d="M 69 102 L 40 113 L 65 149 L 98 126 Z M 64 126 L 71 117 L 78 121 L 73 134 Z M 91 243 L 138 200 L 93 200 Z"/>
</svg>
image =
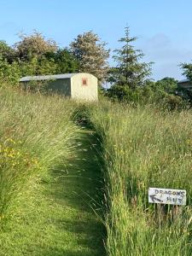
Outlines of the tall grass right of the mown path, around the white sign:
<svg viewBox="0 0 192 256">
<path fill-rule="evenodd" d="M 102 138 L 108 255 L 191 255 L 192 112 L 109 102 L 90 117 Z M 186 207 L 148 204 L 148 188 L 187 190 Z"/>
</svg>

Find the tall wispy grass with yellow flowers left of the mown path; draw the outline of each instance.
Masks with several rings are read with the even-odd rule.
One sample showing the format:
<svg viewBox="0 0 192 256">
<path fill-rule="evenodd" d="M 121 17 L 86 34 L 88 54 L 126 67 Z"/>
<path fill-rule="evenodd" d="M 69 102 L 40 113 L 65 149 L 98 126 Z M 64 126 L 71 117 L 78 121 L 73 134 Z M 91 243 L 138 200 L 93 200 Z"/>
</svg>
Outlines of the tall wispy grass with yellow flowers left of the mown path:
<svg viewBox="0 0 192 256">
<path fill-rule="evenodd" d="M 30 183 L 73 154 L 73 103 L 0 89 L 0 219 Z"/>
</svg>

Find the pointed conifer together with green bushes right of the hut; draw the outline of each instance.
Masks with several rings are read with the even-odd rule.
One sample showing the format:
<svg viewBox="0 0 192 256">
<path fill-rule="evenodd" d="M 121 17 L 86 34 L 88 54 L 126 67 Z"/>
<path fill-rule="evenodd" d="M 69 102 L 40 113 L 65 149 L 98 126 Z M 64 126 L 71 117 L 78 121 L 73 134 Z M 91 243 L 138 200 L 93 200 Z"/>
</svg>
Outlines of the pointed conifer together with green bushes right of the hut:
<svg viewBox="0 0 192 256">
<path fill-rule="evenodd" d="M 125 36 L 119 39 L 120 49 L 114 50 L 113 59 L 116 67 L 108 72 L 108 81 L 112 84 L 107 96 L 133 104 L 155 103 L 160 108 L 188 108 L 192 97 L 188 90 L 177 87 L 177 80 L 164 78 L 155 81 L 150 78 L 153 62 L 142 62 L 143 52 L 135 49 L 137 40 L 130 36 L 129 27 L 125 27 Z M 192 79 L 190 64 L 180 64 L 183 74 Z"/>
</svg>

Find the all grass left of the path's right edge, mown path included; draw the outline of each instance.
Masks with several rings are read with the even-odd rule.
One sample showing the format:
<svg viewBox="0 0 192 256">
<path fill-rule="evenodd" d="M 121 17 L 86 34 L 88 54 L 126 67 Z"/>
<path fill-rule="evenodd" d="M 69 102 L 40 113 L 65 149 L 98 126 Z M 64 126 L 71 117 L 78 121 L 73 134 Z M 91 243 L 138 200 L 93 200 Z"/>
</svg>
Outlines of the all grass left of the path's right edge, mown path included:
<svg viewBox="0 0 192 256">
<path fill-rule="evenodd" d="M 0 98 L 0 255 L 105 255 L 96 138 L 71 120 L 76 103 Z"/>
</svg>

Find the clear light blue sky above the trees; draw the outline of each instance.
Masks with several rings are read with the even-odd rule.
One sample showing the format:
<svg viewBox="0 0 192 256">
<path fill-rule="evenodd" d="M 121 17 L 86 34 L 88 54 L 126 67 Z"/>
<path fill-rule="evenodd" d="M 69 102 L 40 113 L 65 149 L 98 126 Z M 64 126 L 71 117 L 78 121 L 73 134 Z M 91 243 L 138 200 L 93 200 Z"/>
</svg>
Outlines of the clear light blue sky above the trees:
<svg viewBox="0 0 192 256">
<path fill-rule="evenodd" d="M 13 45 L 35 29 L 67 47 L 93 31 L 107 48 L 119 49 L 125 26 L 137 37 L 143 61 L 153 61 L 152 79 L 183 79 L 180 63 L 192 61 L 192 0 L 0 0 L 0 40 Z M 109 60 L 112 66 L 112 57 Z"/>
</svg>

